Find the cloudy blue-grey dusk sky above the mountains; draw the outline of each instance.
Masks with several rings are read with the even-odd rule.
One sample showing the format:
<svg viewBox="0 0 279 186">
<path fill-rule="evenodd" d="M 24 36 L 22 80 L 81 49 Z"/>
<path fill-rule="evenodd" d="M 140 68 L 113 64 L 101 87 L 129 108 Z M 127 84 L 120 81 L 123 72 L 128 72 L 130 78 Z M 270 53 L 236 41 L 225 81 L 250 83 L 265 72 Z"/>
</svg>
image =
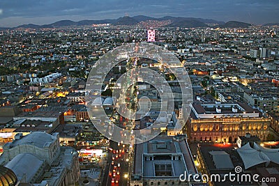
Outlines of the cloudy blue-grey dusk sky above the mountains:
<svg viewBox="0 0 279 186">
<path fill-rule="evenodd" d="M 0 0 L 0 27 L 129 16 L 279 22 L 278 0 Z"/>
</svg>

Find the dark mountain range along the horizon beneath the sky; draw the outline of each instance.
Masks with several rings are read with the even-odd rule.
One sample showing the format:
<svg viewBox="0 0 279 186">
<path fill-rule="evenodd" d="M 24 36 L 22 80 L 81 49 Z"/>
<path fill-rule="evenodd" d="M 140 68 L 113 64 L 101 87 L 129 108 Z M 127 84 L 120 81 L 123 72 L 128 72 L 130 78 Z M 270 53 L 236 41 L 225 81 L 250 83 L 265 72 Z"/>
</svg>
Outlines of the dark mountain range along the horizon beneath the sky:
<svg viewBox="0 0 279 186">
<path fill-rule="evenodd" d="M 186 28 L 195 28 L 195 27 L 222 27 L 222 28 L 247 28 L 248 26 L 252 26 L 252 24 L 248 24 L 245 22 L 219 22 L 216 20 L 195 18 L 195 17 L 172 17 L 165 16 L 160 18 L 148 17 L 144 15 L 137 15 L 134 17 L 124 16 L 119 17 L 116 20 L 82 20 L 78 22 L 74 22 L 71 20 L 61 20 L 58 22 L 54 22 L 52 24 L 22 24 L 20 26 L 14 28 L 0 28 L 0 30 L 4 29 L 18 29 L 18 28 L 26 28 L 26 29 L 43 29 L 43 28 L 59 28 L 63 26 L 90 26 L 92 24 L 112 24 L 112 25 L 137 25 L 141 22 L 148 21 L 168 21 L 165 27 L 186 27 Z"/>
</svg>

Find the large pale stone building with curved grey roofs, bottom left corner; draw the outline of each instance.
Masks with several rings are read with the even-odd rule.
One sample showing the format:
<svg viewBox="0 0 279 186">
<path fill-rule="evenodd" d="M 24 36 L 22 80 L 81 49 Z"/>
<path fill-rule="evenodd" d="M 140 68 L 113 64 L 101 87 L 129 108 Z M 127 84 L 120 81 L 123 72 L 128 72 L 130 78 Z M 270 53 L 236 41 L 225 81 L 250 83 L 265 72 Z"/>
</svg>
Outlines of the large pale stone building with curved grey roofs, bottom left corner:
<svg viewBox="0 0 279 186">
<path fill-rule="evenodd" d="M 77 151 L 61 147 L 58 133 L 17 135 L 3 146 L 0 164 L 14 171 L 20 183 L 31 185 L 68 186 L 80 178 Z"/>
</svg>

